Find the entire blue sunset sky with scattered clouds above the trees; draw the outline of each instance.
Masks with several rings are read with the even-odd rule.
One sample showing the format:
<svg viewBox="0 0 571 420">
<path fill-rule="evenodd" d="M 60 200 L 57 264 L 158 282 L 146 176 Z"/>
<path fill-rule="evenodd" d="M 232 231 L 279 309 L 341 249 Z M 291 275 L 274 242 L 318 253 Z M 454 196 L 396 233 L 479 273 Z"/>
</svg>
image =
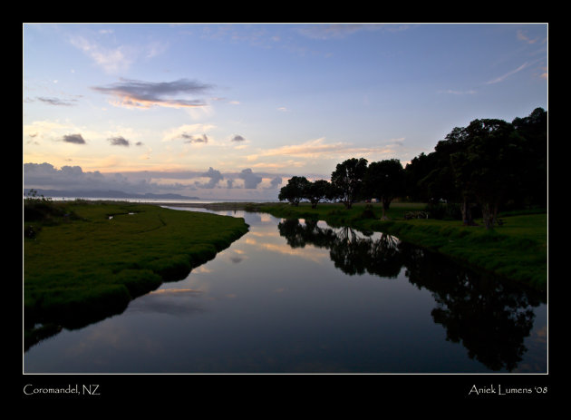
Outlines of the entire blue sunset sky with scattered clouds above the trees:
<svg viewBox="0 0 571 420">
<path fill-rule="evenodd" d="M 547 24 L 23 24 L 24 188 L 276 200 L 547 110 Z"/>
</svg>

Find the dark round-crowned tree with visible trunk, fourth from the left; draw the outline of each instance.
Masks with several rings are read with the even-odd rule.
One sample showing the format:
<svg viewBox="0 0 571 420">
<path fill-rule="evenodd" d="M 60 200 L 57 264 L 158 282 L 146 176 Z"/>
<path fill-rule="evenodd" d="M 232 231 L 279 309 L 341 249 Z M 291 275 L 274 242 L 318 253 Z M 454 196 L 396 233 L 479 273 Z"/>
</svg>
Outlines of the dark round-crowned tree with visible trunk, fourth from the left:
<svg viewBox="0 0 571 420">
<path fill-rule="evenodd" d="M 382 202 L 382 219 L 386 219 L 385 212 L 389 210 L 391 201 L 404 194 L 405 173 L 401 161 L 390 159 L 386 161 L 373 161 L 365 173 L 365 190 L 374 198 Z"/>
</svg>

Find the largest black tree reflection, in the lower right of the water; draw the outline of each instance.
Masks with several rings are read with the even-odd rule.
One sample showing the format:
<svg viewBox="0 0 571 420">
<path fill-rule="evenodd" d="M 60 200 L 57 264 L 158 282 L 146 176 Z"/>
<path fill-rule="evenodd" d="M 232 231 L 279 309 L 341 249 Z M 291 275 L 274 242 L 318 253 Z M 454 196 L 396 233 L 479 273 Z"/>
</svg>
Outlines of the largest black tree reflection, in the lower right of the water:
<svg viewBox="0 0 571 420">
<path fill-rule="evenodd" d="M 470 358 L 491 370 L 515 369 L 527 351 L 523 341 L 541 296 L 409 244 L 401 249 L 409 281 L 431 290 L 437 303 L 431 315 L 446 328 L 447 340 L 461 342 Z"/>
</svg>

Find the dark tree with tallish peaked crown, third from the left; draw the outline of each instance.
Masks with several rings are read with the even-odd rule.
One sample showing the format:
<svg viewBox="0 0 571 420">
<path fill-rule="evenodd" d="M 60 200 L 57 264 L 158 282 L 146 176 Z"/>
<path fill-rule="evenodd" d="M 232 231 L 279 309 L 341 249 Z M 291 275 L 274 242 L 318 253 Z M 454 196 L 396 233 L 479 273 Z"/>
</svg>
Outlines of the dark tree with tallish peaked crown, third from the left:
<svg viewBox="0 0 571 420">
<path fill-rule="evenodd" d="M 363 178 L 367 171 L 367 160 L 348 159 L 338 163 L 331 174 L 331 185 L 334 193 L 347 209 L 351 209 L 363 190 Z"/>
</svg>

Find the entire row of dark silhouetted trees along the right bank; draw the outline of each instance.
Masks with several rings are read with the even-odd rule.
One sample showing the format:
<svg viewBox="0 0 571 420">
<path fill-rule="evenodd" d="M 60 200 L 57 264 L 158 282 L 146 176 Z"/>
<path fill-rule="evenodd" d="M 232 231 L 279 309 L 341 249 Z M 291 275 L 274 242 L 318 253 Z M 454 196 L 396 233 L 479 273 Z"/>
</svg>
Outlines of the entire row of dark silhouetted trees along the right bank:
<svg viewBox="0 0 571 420">
<path fill-rule="evenodd" d="M 458 209 L 466 225 L 478 211 L 487 229 L 498 210 L 547 206 L 547 112 L 537 108 L 513 122 L 480 119 L 455 127 L 429 154 L 402 167 L 398 159 L 352 158 L 336 165 L 330 181 L 292 177 L 278 199 L 297 206 L 307 200 L 344 203 L 377 199 L 385 218 L 392 200 L 427 202 Z"/>
</svg>

